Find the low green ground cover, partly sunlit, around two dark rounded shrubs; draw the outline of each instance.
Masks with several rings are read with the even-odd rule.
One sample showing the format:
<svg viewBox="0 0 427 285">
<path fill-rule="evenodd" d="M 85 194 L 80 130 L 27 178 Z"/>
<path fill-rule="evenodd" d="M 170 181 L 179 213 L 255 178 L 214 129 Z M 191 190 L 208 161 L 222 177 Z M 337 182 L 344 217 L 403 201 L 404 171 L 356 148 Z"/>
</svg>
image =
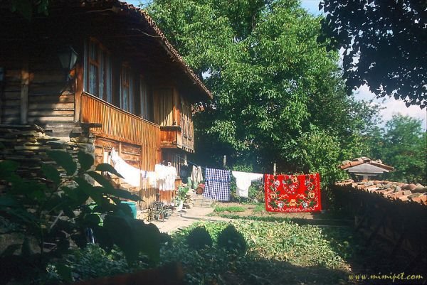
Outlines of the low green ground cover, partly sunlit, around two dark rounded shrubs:
<svg viewBox="0 0 427 285">
<path fill-rule="evenodd" d="M 334 247 L 320 227 L 293 222 L 231 221 L 247 243 L 248 250 L 242 256 L 216 245 L 218 235 L 228 224 L 198 222 L 175 232 L 172 246 L 162 250 L 163 262 L 182 262 L 186 284 L 344 284 L 347 279 L 348 264 L 343 257 L 349 254 L 349 248 Z M 186 235 L 201 225 L 214 245 L 194 251 L 186 245 Z"/>
</svg>

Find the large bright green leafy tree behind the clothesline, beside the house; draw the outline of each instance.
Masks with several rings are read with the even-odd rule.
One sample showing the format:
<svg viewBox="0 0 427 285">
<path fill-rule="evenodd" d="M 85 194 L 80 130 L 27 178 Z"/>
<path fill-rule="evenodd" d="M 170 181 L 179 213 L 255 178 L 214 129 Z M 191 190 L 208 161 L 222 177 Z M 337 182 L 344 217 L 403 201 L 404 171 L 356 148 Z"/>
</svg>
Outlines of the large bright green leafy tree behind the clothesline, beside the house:
<svg viewBox="0 0 427 285">
<path fill-rule="evenodd" d="M 194 118 L 203 163 L 307 173 L 361 155 L 374 109 L 345 95 L 338 54 L 317 41 L 321 18 L 297 0 L 158 0 L 149 13 L 214 92 Z M 333 146 L 307 143 L 317 134 Z"/>
</svg>

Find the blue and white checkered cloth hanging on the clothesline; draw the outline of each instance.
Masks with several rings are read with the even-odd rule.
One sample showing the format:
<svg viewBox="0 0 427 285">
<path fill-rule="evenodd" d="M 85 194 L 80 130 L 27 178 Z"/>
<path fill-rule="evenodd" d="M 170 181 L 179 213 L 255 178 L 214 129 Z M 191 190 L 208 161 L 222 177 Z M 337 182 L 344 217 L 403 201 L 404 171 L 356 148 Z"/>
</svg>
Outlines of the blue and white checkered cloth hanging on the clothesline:
<svg viewBox="0 0 427 285">
<path fill-rule="evenodd" d="M 230 171 L 207 168 L 205 172 L 205 198 L 229 201 L 230 200 Z"/>
</svg>

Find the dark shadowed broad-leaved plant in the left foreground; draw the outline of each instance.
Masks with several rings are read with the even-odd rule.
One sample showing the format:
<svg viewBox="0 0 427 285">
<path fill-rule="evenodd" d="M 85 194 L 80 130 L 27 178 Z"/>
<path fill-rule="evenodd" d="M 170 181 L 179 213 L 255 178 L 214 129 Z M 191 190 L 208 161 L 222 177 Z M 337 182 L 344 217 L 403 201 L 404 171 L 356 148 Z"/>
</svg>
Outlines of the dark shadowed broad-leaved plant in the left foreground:
<svg viewBox="0 0 427 285">
<path fill-rule="evenodd" d="M 107 171 L 122 177 L 115 168 L 107 163 L 93 166 L 93 156 L 83 151 L 78 152 L 77 161 L 65 151 L 47 154 L 51 161 L 41 164 L 44 177 L 38 179 L 19 176 L 20 166 L 15 161 L 0 162 L 0 181 L 6 185 L 0 196 L 0 215 L 7 225 L 1 230 L 5 235 L 25 237 L 14 240 L 1 253 L 0 263 L 6 266 L 0 269 L 0 281 L 24 276 L 36 279 L 46 273 L 51 259 L 70 247 L 85 247 L 88 230 L 102 248 L 117 245 L 122 249 L 130 264 L 141 253 L 150 262 L 159 261 L 161 235 L 157 227 L 134 220 L 127 205 L 120 203 L 122 199 L 140 200 L 139 196 L 114 188 L 101 174 Z M 70 281 L 67 267 L 58 273 Z"/>
</svg>

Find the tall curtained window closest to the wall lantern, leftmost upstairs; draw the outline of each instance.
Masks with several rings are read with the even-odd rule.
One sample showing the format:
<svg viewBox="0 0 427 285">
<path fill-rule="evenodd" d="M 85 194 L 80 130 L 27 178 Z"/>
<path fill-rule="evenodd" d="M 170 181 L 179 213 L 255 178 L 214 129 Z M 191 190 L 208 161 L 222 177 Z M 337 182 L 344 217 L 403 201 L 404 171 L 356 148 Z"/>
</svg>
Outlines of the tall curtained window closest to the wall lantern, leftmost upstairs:
<svg viewBox="0 0 427 285">
<path fill-rule="evenodd" d="M 85 57 L 85 91 L 112 103 L 112 60 L 110 53 L 95 39 L 90 39 Z"/>
</svg>

